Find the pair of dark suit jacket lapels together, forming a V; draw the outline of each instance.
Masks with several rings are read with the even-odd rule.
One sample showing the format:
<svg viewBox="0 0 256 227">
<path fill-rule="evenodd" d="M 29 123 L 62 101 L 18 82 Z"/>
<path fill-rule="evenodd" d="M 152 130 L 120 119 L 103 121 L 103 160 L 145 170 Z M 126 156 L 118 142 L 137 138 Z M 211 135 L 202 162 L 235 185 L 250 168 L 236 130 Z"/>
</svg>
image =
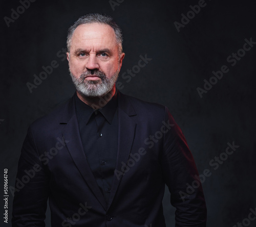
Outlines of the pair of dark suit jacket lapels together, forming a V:
<svg viewBox="0 0 256 227">
<path fill-rule="evenodd" d="M 101 193 L 99 186 L 94 178 L 92 170 L 87 162 L 86 155 L 84 154 L 82 141 L 79 133 L 79 126 L 75 111 L 74 96 L 70 102 L 66 105 L 66 111 L 63 111 L 63 115 L 60 124 L 66 124 L 66 127 L 62 130 L 62 135 L 65 140 L 68 140 L 67 148 L 69 153 L 81 173 L 84 181 L 92 190 L 95 197 L 98 199 L 102 207 L 107 210 L 107 204 Z M 129 159 L 134 137 L 136 131 L 136 122 L 132 119 L 136 115 L 136 112 L 130 102 L 130 100 L 120 92 L 118 92 L 118 149 L 117 149 L 117 161 L 116 170 L 121 171 L 122 162 L 126 163 Z M 121 182 L 122 174 L 117 177 L 113 176 L 113 183 L 108 202 L 108 208 L 110 207 L 115 194 L 118 190 L 118 186 Z"/>
</svg>

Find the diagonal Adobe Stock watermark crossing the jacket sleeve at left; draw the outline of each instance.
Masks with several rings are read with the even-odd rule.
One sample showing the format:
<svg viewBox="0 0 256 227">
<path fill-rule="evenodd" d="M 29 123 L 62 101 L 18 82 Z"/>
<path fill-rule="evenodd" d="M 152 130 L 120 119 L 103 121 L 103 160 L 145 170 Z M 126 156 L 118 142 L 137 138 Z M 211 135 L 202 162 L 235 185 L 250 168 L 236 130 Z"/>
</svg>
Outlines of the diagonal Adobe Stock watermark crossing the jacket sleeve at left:
<svg viewBox="0 0 256 227">
<path fill-rule="evenodd" d="M 49 162 L 49 159 L 53 159 L 54 156 L 58 154 L 58 151 L 61 150 L 69 140 L 65 140 L 63 137 L 62 139 L 57 138 L 57 142 L 54 147 L 52 147 L 49 152 L 45 152 L 44 154 L 40 155 L 39 159 L 43 165 L 46 165 Z M 39 164 L 34 164 L 33 168 L 27 170 L 25 169 L 25 174 L 22 176 L 21 179 L 16 178 L 16 185 L 15 187 L 9 186 L 9 190 L 14 196 L 14 192 L 19 192 L 21 189 L 25 187 L 26 184 L 30 182 L 31 179 L 34 178 L 35 174 L 41 171 L 42 167 Z"/>
</svg>

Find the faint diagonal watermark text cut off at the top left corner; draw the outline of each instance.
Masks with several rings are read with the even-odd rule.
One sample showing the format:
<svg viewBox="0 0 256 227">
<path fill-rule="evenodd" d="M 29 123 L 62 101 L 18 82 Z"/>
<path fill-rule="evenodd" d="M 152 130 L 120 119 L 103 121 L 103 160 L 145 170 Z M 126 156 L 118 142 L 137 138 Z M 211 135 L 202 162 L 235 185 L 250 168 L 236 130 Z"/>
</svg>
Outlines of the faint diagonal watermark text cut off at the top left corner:
<svg viewBox="0 0 256 227">
<path fill-rule="evenodd" d="M 7 27 L 10 27 L 10 23 L 14 23 L 15 20 L 19 18 L 21 14 L 23 14 L 29 7 L 31 3 L 34 3 L 36 0 L 20 0 L 20 5 L 15 9 L 11 9 L 11 17 L 5 16 L 4 20 L 6 22 Z"/>
</svg>

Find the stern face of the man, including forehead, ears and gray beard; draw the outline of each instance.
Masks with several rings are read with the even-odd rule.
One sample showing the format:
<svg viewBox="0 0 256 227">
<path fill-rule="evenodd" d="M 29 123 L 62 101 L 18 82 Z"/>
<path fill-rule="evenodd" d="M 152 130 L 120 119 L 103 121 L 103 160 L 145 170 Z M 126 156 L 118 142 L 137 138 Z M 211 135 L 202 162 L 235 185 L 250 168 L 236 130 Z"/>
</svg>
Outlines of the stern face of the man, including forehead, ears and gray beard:
<svg viewBox="0 0 256 227">
<path fill-rule="evenodd" d="M 98 97 L 112 90 L 124 54 L 119 55 L 114 30 L 108 24 L 79 25 L 67 53 L 76 90 L 83 96 Z"/>
</svg>

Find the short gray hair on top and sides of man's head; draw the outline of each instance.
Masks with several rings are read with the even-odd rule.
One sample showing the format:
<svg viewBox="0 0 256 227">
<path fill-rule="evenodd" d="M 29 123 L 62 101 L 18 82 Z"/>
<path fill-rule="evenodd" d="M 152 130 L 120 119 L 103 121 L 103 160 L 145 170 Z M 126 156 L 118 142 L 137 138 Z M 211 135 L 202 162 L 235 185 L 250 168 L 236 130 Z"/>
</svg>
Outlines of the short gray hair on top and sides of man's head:
<svg viewBox="0 0 256 227">
<path fill-rule="evenodd" d="M 70 52 L 70 46 L 71 46 L 71 39 L 74 34 L 74 31 L 80 24 L 86 24 L 86 23 L 102 23 L 102 24 L 108 24 L 114 29 L 115 35 L 116 35 L 116 42 L 119 45 L 119 54 L 122 53 L 122 31 L 114 21 L 114 19 L 111 16 L 108 15 L 102 15 L 99 13 L 90 13 L 84 16 L 81 16 L 74 24 L 69 28 L 68 31 L 68 37 L 67 37 L 67 48 L 68 52 Z"/>
</svg>

